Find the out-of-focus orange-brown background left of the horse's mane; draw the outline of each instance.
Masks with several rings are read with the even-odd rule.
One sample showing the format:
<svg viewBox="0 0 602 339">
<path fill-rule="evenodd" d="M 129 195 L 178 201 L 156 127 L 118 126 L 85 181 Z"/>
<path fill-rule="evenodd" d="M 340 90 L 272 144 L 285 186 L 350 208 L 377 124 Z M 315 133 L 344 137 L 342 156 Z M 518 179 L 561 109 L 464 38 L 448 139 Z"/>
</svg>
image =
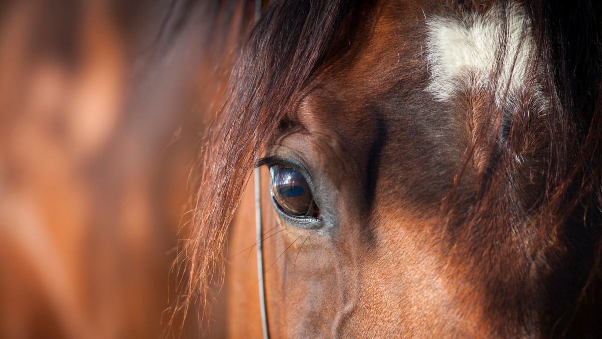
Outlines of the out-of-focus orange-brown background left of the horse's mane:
<svg viewBox="0 0 602 339">
<path fill-rule="evenodd" d="M 194 309 L 167 325 L 216 65 L 248 28 L 223 6 L 0 2 L 0 338 L 207 335 Z"/>
</svg>

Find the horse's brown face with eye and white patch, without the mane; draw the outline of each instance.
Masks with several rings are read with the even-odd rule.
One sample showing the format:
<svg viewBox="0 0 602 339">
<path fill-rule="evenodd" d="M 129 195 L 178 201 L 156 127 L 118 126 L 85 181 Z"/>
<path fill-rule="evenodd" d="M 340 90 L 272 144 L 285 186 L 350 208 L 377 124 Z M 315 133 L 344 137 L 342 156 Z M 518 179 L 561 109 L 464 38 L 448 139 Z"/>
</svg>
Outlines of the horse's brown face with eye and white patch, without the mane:
<svg viewBox="0 0 602 339">
<path fill-rule="evenodd" d="M 583 283 L 571 275 L 588 265 L 567 247 L 595 231 L 554 237 L 530 223 L 545 186 L 547 139 L 538 133 L 546 95 L 537 67 L 527 70 L 528 37 L 517 49 L 509 37 L 508 53 L 519 51 L 510 74 L 523 78 L 508 82 L 502 104 L 488 87 L 494 81 L 482 71 L 508 62 L 486 56 L 496 53 L 486 47 L 497 46 L 503 26 L 484 23 L 495 10 L 459 19 L 436 7 L 383 5 L 338 37 L 344 52 L 303 90 L 265 152 L 272 191 L 287 189 L 264 195 L 273 202 L 263 212 L 270 331 L 539 336 L 563 316 L 558 304 Z M 530 34 L 520 8 L 506 13 Z M 476 43 L 485 49 L 470 50 Z M 451 45 L 464 57 L 445 55 Z M 437 64 L 450 60 L 456 68 Z M 529 111 L 521 132 L 537 138 L 502 145 L 500 110 Z M 493 146 L 484 142 L 492 135 Z M 297 193 L 308 190 L 317 210 L 306 213 L 314 203 Z"/>
</svg>

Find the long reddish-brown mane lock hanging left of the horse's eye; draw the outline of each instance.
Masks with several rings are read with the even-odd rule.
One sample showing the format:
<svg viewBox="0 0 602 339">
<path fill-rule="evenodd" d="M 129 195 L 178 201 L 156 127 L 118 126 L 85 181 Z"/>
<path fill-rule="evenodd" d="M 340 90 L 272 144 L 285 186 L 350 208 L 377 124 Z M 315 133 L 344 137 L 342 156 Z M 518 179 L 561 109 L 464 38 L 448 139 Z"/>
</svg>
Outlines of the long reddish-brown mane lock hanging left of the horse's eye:
<svg viewBox="0 0 602 339">
<path fill-rule="evenodd" d="M 194 226 L 181 252 L 188 270 L 184 313 L 205 299 L 250 172 L 291 99 L 320 67 L 351 2 L 276 1 L 241 48 L 226 102 L 209 129 Z"/>
</svg>

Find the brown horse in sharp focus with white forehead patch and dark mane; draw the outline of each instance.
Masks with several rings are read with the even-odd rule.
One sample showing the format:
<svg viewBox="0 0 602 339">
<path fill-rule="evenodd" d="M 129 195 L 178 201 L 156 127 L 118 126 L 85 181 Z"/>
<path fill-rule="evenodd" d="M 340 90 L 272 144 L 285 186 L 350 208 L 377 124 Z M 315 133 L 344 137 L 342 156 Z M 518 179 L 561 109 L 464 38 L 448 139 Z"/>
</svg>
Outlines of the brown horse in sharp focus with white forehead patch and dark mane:
<svg viewBox="0 0 602 339">
<path fill-rule="evenodd" d="M 602 333 L 600 5 L 223 6 L 181 310 L 224 283 L 232 337 Z"/>
</svg>

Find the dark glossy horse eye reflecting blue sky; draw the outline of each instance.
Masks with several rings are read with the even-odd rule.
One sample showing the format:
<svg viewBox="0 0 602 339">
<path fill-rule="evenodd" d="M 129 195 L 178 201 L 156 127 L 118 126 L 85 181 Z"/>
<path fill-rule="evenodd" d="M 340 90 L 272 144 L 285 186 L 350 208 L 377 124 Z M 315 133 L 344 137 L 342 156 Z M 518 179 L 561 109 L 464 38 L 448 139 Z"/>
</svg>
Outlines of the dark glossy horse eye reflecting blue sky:
<svg viewBox="0 0 602 339">
<path fill-rule="evenodd" d="M 318 217 L 314 196 L 305 177 L 296 169 L 275 165 L 270 167 L 272 196 L 282 210 L 293 216 Z"/>
</svg>

